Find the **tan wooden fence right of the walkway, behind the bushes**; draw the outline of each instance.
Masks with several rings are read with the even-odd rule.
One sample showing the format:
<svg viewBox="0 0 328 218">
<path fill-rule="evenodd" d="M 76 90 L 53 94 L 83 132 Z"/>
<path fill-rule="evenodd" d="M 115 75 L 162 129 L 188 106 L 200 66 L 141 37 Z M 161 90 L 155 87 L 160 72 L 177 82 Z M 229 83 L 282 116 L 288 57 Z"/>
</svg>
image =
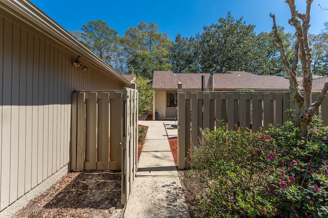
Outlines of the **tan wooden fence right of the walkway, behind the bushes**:
<svg viewBox="0 0 328 218">
<path fill-rule="evenodd" d="M 316 99 L 319 93 L 313 93 Z M 289 93 L 262 92 L 196 92 L 178 90 L 178 167 L 189 167 L 186 161 L 192 146 L 198 143 L 199 128 L 214 130 L 218 120 L 227 123 L 228 130 L 283 124 L 289 119 L 285 111 L 293 108 Z M 328 125 L 328 101 L 325 97 L 319 111 Z"/>
</svg>

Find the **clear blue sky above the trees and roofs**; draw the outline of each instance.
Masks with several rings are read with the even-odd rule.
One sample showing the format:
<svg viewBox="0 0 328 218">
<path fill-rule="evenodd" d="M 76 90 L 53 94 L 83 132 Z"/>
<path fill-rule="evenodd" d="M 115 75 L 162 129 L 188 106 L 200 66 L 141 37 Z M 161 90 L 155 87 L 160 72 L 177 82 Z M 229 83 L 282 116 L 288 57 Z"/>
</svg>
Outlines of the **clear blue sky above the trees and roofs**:
<svg viewBox="0 0 328 218">
<path fill-rule="evenodd" d="M 184 37 L 201 33 L 203 26 L 217 23 L 220 17 L 226 17 L 231 11 L 235 19 L 243 16 L 247 24 L 255 25 L 255 32 L 270 32 L 272 18 L 276 15 L 277 24 L 284 26 L 287 32 L 294 33 L 288 24 L 291 17 L 284 0 L 167 0 L 167 1 L 108 1 L 108 0 L 30 0 L 56 23 L 68 31 L 80 30 L 83 24 L 91 20 L 103 20 L 118 35 L 135 27 L 141 21 L 153 21 L 160 33 L 167 33 L 171 40 L 180 33 Z M 305 0 L 295 0 L 299 12 L 305 12 Z M 311 9 L 310 33 L 318 34 L 328 21 L 328 10 L 322 11 L 318 6 L 328 8 L 327 0 L 314 0 Z"/>
</svg>

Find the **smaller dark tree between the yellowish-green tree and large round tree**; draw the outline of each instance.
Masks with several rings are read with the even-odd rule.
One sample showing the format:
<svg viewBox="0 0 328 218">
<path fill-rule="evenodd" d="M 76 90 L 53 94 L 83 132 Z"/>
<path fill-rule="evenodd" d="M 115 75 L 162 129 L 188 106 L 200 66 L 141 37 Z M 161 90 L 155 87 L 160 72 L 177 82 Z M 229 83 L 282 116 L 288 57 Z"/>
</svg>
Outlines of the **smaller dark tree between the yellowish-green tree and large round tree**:
<svg viewBox="0 0 328 218">
<path fill-rule="evenodd" d="M 169 47 L 171 70 L 174 73 L 198 73 L 200 72 L 199 62 L 195 55 L 195 37 L 182 37 L 178 34 L 175 43 Z"/>
</svg>

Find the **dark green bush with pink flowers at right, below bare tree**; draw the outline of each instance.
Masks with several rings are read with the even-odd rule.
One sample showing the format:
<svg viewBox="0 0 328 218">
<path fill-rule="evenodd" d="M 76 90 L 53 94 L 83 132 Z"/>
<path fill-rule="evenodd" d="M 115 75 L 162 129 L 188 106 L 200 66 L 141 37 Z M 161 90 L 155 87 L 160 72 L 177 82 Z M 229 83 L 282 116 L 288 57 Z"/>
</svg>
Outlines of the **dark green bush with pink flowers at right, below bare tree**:
<svg viewBox="0 0 328 218">
<path fill-rule="evenodd" d="M 290 217 L 328 217 L 328 127 L 315 117 L 306 142 L 290 121 L 265 134 L 275 147 L 267 158 L 267 187 L 279 195 L 282 209 Z"/>
</svg>

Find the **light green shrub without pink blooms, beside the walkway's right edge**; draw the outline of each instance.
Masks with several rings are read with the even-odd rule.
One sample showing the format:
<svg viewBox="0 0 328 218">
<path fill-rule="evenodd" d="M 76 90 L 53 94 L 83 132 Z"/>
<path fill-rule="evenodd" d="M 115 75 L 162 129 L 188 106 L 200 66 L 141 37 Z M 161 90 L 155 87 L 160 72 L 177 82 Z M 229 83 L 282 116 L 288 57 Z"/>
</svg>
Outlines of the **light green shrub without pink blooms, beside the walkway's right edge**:
<svg viewBox="0 0 328 218">
<path fill-rule="evenodd" d="M 250 134 L 248 129 L 226 131 L 226 126 L 202 130 L 202 143 L 192 152 L 192 175 L 206 183 L 199 198 L 200 216 L 274 215 L 274 195 L 268 195 L 263 178 L 267 166 L 262 164 L 271 139 L 260 140 L 263 134 Z"/>
</svg>

